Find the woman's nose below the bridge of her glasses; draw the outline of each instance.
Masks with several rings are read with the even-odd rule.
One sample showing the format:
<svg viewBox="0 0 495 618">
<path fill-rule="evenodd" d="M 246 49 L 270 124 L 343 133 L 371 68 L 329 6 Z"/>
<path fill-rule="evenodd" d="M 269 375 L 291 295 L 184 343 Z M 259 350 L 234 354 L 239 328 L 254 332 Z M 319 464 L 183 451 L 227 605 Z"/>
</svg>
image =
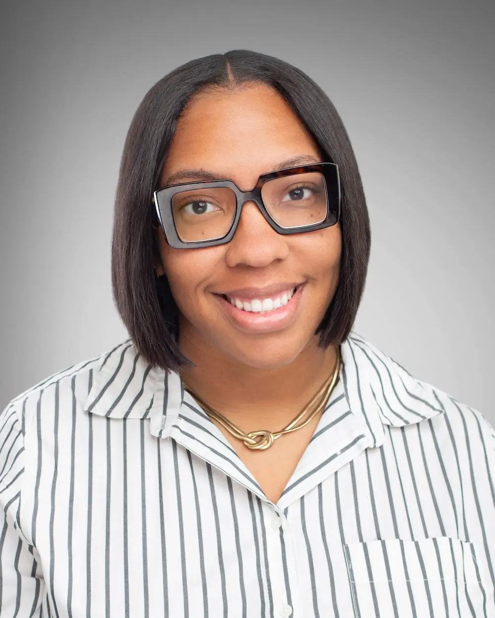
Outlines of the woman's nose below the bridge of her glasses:
<svg viewBox="0 0 495 618">
<path fill-rule="evenodd" d="M 244 202 L 237 229 L 226 248 L 228 266 L 260 268 L 288 256 L 285 235 L 275 232 L 254 201 Z"/>
</svg>

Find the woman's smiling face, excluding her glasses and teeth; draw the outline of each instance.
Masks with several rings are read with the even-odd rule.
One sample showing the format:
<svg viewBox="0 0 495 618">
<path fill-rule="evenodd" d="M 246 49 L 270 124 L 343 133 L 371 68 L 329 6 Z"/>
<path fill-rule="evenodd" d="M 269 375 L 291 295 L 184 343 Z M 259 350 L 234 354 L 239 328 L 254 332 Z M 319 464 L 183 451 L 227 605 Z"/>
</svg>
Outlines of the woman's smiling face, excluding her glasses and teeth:
<svg viewBox="0 0 495 618">
<path fill-rule="evenodd" d="M 252 85 L 204 92 L 190 100 L 178 121 L 161 186 L 204 180 L 189 176 L 168 181 L 179 171 L 202 170 L 248 190 L 261 174 L 280 164 L 322 161 L 316 142 L 272 88 Z M 249 201 L 233 239 L 225 245 L 174 249 L 161 228 L 158 234 L 163 269 L 157 265 L 157 271 L 165 272 L 178 305 L 179 342 L 184 349 L 269 369 L 317 346 L 314 331 L 337 287 L 339 224 L 302 234 L 277 234 Z M 290 296 L 294 287 L 295 294 L 283 304 L 283 295 Z M 237 306 L 224 295 L 237 299 Z M 265 298 L 281 306 L 266 313 L 244 310 L 244 303 L 249 307 L 254 299 Z"/>
</svg>

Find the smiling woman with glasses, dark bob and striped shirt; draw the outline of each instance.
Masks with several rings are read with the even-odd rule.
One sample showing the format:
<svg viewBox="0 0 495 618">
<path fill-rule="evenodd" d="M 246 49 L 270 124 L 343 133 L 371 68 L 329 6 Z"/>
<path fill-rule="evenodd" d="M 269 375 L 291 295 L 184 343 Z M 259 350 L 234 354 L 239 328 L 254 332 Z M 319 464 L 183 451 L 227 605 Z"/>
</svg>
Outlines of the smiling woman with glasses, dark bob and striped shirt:
<svg viewBox="0 0 495 618">
<path fill-rule="evenodd" d="M 1 419 L 1 618 L 495 616 L 495 436 L 352 326 L 370 245 L 340 117 L 251 51 L 137 109 L 129 340 Z"/>
</svg>

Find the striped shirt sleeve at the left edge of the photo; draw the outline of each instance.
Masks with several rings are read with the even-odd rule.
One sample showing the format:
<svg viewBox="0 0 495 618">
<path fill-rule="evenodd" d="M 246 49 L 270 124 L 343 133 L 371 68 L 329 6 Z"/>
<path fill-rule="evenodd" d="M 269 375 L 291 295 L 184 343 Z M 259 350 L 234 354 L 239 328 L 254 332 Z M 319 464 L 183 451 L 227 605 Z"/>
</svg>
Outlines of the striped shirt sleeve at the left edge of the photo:
<svg viewBox="0 0 495 618">
<path fill-rule="evenodd" d="M 41 616 L 45 584 L 37 551 L 19 523 L 24 473 L 24 436 L 15 405 L 0 414 L 0 614 L 1 618 Z"/>
</svg>

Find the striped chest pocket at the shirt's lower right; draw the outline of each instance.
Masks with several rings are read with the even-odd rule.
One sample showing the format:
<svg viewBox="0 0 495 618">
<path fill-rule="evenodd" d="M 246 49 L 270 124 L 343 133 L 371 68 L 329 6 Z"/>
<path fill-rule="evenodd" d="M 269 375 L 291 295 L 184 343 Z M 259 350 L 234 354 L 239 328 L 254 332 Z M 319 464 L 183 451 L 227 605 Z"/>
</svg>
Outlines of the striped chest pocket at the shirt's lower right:
<svg viewBox="0 0 495 618">
<path fill-rule="evenodd" d="M 387 539 L 349 543 L 344 552 L 355 618 L 487 616 L 472 543 Z"/>
</svg>

